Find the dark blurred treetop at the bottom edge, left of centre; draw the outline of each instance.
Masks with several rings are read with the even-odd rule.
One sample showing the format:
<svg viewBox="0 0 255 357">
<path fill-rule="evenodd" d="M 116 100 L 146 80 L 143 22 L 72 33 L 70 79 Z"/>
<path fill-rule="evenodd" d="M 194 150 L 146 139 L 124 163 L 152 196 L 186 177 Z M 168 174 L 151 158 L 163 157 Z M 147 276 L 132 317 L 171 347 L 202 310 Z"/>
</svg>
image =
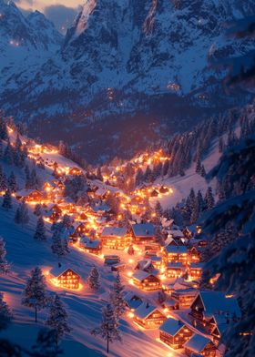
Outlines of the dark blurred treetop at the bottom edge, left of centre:
<svg viewBox="0 0 255 357">
<path fill-rule="evenodd" d="M 56 345 L 56 330 L 40 330 L 32 350 L 33 357 L 57 357 L 61 355 L 63 352 Z"/>
</svg>

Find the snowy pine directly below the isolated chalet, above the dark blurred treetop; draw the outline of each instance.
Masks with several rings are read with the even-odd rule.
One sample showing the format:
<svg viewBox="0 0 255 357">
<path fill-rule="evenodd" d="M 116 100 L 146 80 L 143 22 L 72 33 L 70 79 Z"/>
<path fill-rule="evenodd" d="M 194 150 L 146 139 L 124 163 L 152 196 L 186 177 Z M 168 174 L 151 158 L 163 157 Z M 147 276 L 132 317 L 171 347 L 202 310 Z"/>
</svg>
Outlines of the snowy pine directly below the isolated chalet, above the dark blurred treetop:
<svg viewBox="0 0 255 357">
<path fill-rule="evenodd" d="M 56 331 L 56 345 L 66 332 L 70 332 L 71 329 L 67 323 L 67 313 L 63 302 L 56 294 L 54 301 L 52 301 L 49 314 L 46 320 L 46 325 Z"/>
</svg>

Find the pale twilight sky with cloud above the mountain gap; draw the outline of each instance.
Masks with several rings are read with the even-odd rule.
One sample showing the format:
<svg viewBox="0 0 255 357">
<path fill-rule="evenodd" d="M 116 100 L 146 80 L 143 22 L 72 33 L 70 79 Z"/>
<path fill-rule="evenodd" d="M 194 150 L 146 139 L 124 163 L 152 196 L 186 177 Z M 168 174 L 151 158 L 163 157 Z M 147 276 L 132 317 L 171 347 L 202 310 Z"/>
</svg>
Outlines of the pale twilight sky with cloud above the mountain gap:
<svg viewBox="0 0 255 357">
<path fill-rule="evenodd" d="M 65 32 L 66 26 L 73 22 L 83 2 L 84 0 L 15 0 L 16 5 L 24 13 L 38 10 L 62 32 Z"/>
</svg>

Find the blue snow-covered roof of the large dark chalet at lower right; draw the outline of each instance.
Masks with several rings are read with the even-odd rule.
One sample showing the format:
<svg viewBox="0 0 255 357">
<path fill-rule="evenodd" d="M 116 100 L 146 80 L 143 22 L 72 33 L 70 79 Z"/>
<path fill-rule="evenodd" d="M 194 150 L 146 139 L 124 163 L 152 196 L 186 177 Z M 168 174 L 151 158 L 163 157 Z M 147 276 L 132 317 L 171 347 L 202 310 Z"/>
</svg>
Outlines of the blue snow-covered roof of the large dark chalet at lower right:
<svg viewBox="0 0 255 357">
<path fill-rule="evenodd" d="M 207 317 L 219 314 L 220 312 L 229 313 L 230 316 L 240 318 L 241 312 L 238 301 L 235 298 L 226 298 L 221 291 L 199 291 L 199 295 L 205 308 Z"/>
</svg>

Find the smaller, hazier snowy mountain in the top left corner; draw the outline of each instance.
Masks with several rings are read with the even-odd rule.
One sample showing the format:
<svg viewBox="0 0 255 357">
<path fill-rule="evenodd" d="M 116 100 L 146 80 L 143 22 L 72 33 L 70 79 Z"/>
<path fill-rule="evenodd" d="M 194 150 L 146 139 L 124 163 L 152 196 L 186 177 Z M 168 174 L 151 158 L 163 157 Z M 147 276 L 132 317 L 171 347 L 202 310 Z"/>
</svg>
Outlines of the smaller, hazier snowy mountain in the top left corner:
<svg viewBox="0 0 255 357">
<path fill-rule="evenodd" d="M 62 36 L 45 15 L 27 17 L 13 2 L 0 1 L 0 90 L 24 85 L 29 72 L 52 56 Z M 26 73 L 25 73 L 26 72 Z"/>
</svg>

